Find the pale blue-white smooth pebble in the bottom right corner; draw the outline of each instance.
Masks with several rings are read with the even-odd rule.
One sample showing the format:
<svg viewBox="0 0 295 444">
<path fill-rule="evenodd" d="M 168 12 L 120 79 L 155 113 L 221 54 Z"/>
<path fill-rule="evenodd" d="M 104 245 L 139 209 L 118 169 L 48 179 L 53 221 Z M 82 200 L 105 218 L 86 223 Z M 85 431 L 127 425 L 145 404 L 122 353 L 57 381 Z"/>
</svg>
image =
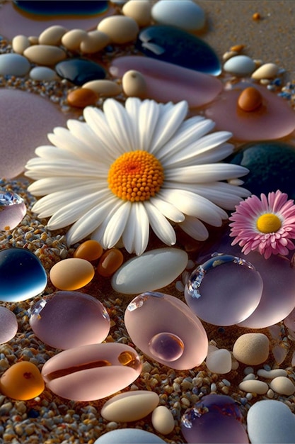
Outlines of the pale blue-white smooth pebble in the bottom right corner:
<svg viewBox="0 0 295 444">
<path fill-rule="evenodd" d="M 295 415 L 283 402 L 263 399 L 248 410 L 247 429 L 252 444 L 294 444 Z"/>
</svg>

